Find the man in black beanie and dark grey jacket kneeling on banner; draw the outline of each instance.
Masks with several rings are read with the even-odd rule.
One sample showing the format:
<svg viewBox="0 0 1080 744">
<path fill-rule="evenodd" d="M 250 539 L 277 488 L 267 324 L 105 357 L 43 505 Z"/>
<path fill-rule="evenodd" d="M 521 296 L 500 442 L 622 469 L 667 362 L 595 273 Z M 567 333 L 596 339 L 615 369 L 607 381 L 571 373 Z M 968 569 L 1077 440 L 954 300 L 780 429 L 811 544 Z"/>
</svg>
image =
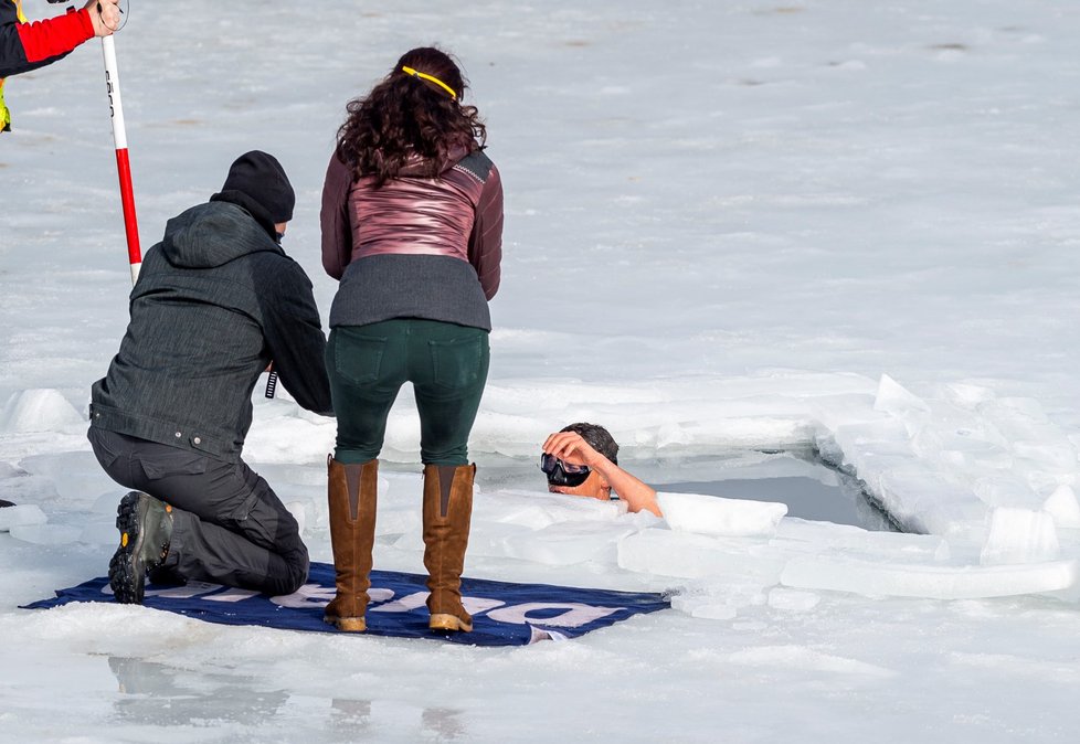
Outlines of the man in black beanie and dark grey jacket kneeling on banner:
<svg viewBox="0 0 1080 744">
<path fill-rule="evenodd" d="M 297 403 L 332 415 L 311 283 L 279 245 L 294 202 L 280 163 L 248 152 L 146 254 L 91 404 L 94 454 L 137 489 L 117 509 L 118 602 L 142 602 L 148 571 L 275 595 L 307 578 L 296 520 L 241 459 L 252 391 L 272 362 Z"/>
</svg>

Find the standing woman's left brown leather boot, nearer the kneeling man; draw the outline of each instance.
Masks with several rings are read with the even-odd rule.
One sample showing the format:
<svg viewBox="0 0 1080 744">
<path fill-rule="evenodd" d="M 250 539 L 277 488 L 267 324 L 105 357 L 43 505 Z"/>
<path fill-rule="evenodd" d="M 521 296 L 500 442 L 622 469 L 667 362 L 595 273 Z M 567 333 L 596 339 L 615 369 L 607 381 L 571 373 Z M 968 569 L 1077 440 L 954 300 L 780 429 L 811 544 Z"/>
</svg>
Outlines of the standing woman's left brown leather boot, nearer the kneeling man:
<svg viewBox="0 0 1080 744">
<path fill-rule="evenodd" d="M 364 612 L 371 587 L 371 549 L 375 542 L 375 492 L 379 460 L 345 465 L 327 457 L 330 544 L 337 595 L 322 619 L 338 630 L 367 630 Z"/>
</svg>

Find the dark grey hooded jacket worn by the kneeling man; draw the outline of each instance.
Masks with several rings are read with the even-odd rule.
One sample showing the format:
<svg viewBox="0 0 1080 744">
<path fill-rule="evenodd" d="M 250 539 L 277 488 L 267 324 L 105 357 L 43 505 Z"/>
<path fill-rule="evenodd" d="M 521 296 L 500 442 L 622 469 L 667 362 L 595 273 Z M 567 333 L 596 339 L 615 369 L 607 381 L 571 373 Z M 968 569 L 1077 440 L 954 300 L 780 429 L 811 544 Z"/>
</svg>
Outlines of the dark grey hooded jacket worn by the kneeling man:
<svg viewBox="0 0 1080 744">
<path fill-rule="evenodd" d="M 252 391 L 272 360 L 297 403 L 332 415 L 311 283 L 239 204 L 211 201 L 169 221 L 130 313 L 94 383 L 92 426 L 237 459 Z"/>
</svg>

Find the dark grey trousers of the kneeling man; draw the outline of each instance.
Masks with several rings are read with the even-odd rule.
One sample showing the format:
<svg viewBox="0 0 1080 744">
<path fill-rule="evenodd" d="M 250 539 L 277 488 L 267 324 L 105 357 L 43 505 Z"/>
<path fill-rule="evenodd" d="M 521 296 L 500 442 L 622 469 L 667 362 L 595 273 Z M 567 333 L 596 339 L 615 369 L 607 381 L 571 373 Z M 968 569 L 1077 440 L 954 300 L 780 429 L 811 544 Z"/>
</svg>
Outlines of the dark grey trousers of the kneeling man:
<svg viewBox="0 0 1080 744">
<path fill-rule="evenodd" d="M 184 580 L 292 594 L 307 580 L 299 525 L 243 461 L 92 426 L 97 461 L 113 480 L 172 504 L 165 567 Z"/>
</svg>

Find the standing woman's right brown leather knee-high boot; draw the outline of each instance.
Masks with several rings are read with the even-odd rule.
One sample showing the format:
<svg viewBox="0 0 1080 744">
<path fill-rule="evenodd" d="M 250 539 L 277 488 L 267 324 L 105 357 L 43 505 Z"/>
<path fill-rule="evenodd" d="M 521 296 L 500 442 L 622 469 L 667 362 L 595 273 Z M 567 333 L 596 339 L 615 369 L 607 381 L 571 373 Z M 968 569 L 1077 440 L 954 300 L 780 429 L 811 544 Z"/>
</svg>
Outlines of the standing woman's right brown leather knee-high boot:
<svg viewBox="0 0 1080 744">
<path fill-rule="evenodd" d="M 462 606 L 462 571 L 473 514 L 475 465 L 424 466 L 424 566 L 433 630 L 473 629 Z"/>
</svg>

